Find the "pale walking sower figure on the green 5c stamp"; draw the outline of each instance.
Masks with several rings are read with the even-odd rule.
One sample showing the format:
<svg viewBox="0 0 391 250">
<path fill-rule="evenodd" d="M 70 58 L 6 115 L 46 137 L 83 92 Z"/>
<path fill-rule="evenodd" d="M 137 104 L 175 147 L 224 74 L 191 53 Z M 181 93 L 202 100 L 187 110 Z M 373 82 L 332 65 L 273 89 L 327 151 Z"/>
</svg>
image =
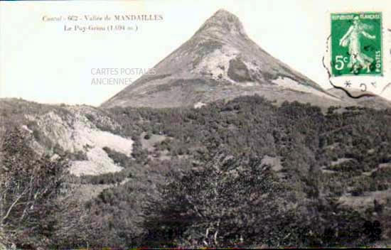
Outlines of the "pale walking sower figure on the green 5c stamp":
<svg viewBox="0 0 391 250">
<path fill-rule="evenodd" d="M 346 47 L 349 46 L 350 53 L 350 62 L 348 67 L 353 68 L 353 72 L 358 72 L 360 68 L 367 68 L 370 70 L 370 64 L 373 62 L 373 58 L 370 58 L 368 55 L 365 55 L 361 52 L 360 38 L 365 36 L 365 38 L 375 39 L 376 36 L 372 36 L 365 32 L 365 29 L 370 29 L 371 27 L 360 23 L 360 18 L 355 16 L 353 18 L 353 25 L 350 26 L 348 32 L 341 38 L 339 45 Z"/>
</svg>

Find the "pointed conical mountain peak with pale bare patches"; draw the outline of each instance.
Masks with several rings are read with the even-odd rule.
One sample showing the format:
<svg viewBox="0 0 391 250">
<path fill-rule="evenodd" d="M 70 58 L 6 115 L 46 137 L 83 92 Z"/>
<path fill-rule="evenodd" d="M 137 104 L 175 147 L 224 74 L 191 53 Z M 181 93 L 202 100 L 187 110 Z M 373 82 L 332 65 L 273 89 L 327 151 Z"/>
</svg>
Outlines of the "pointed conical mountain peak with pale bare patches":
<svg viewBox="0 0 391 250">
<path fill-rule="evenodd" d="M 102 107 L 183 107 L 255 93 L 277 102 L 298 100 L 320 106 L 340 102 L 262 50 L 248 38 L 239 19 L 224 10 L 205 21 L 154 71 Z"/>
</svg>

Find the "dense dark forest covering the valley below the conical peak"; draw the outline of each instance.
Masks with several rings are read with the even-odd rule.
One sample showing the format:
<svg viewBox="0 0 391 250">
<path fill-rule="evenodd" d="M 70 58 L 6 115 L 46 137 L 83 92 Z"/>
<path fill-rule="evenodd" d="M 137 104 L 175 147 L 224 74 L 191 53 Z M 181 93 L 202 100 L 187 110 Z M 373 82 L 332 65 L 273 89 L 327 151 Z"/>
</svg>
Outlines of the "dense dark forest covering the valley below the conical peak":
<svg viewBox="0 0 391 250">
<path fill-rule="evenodd" d="M 120 126 L 100 129 L 132 137 L 132 157 L 105 148 L 124 170 L 80 178 L 112 186 L 82 205 L 89 234 L 63 246 L 365 246 L 391 237 L 390 200 L 343 203 L 390 189 L 390 110 L 324 114 L 253 96 L 107 114 Z M 156 136 L 164 139 L 143 146 Z"/>
</svg>

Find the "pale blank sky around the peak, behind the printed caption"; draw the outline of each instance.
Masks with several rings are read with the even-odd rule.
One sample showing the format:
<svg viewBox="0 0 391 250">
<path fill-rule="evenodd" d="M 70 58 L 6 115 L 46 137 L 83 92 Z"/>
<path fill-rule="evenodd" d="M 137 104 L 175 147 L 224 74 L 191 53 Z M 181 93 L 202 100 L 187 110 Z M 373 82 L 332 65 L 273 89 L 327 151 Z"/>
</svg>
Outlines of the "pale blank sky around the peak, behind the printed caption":
<svg viewBox="0 0 391 250">
<path fill-rule="evenodd" d="M 383 0 L 0 1 L 0 97 L 100 105 L 127 85 L 94 85 L 94 80 L 114 77 L 134 82 L 191 38 L 219 9 L 240 18 L 247 35 L 261 48 L 328 89 L 331 85 L 321 60 L 330 33 L 330 13 L 382 11 L 383 27 L 391 28 L 390 7 L 391 1 Z M 59 16 L 142 14 L 161 18 L 48 21 Z M 65 26 L 75 25 L 123 25 L 132 31 L 65 31 Z M 384 34 L 385 51 L 391 51 L 389 33 Z M 385 55 L 387 63 L 390 57 Z M 98 70 L 106 68 L 114 71 Z M 126 73 L 132 69 L 142 70 Z M 390 70 L 385 68 L 383 85 L 391 82 Z M 380 94 L 381 86 L 370 90 Z M 391 88 L 382 96 L 391 99 Z"/>
</svg>

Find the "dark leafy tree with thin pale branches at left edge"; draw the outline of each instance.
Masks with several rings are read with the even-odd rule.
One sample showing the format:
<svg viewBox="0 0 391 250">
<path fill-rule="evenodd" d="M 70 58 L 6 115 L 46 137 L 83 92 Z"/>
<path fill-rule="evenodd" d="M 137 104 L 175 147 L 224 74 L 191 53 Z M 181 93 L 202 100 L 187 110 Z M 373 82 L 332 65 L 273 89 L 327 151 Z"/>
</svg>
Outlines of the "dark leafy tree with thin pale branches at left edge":
<svg viewBox="0 0 391 250">
<path fill-rule="evenodd" d="M 8 129 L 1 141 L 0 229 L 17 246 L 34 249 L 80 229 L 83 217 L 66 195 L 66 161 L 38 156 L 23 133 Z M 70 214 L 77 219 L 65 219 Z"/>
</svg>

